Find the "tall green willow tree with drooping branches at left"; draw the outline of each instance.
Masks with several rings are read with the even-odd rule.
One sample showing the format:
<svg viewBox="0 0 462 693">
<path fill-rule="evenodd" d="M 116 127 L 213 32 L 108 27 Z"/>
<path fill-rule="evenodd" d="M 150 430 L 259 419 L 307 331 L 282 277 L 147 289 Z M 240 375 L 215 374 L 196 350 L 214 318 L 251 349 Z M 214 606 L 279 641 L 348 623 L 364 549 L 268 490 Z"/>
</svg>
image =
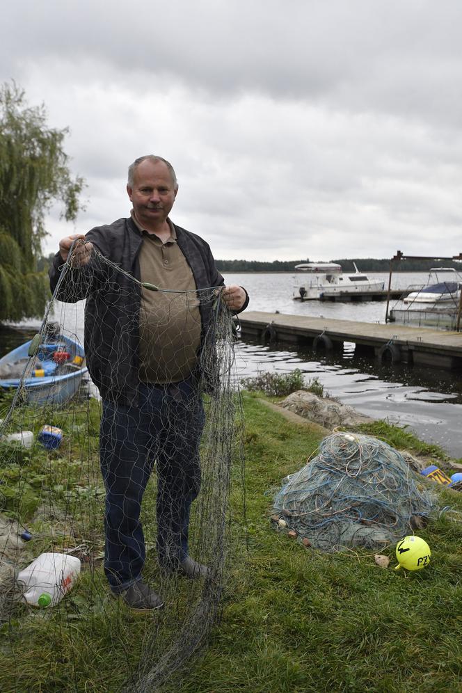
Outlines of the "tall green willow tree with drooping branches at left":
<svg viewBox="0 0 462 693">
<path fill-rule="evenodd" d="M 37 271 L 45 217 L 54 202 L 76 218 L 83 179 L 63 150 L 68 129 L 47 126 L 45 106 L 29 107 L 15 83 L 0 86 L 0 321 L 43 313 L 47 280 Z"/>
</svg>

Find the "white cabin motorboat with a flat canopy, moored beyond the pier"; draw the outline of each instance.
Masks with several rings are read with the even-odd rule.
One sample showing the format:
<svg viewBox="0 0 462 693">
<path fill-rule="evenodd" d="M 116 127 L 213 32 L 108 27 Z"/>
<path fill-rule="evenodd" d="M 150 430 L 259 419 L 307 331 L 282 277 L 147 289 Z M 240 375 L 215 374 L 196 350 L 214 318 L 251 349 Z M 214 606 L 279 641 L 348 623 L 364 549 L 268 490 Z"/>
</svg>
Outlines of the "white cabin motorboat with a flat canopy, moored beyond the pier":
<svg viewBox="0 0 462 693">
<path fill-rule="evenodd" d="M 358 270 L 353 262 L 354 272 L 344 273 L 342 266 L 335 262 L 303 262 L 295 266 L 296 271 L 306 272 L 303 284 L 294 287 L 294 299 L 298 301 L 319 300 L 343 294 L 366 294 L 383 291 L 381 279 L 369 279 Z"/>
</svg>

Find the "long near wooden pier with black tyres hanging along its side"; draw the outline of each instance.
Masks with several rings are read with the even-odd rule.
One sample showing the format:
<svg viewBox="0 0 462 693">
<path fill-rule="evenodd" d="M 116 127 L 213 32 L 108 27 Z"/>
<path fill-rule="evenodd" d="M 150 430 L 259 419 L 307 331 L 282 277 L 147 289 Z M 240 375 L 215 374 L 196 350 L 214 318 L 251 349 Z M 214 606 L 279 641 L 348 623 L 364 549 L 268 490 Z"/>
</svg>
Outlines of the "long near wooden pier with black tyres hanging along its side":
<svg viewBox="0 0 462 693">
<path fill-rule="evenodd" d="M 281 342 L 328 351 L 353 342 L 358 353 L 381 361 L 462 368 L 462 333 L 458 332 L 247 310 L 239 321 L 242 337 L 260 344 Z"/>
</svg>

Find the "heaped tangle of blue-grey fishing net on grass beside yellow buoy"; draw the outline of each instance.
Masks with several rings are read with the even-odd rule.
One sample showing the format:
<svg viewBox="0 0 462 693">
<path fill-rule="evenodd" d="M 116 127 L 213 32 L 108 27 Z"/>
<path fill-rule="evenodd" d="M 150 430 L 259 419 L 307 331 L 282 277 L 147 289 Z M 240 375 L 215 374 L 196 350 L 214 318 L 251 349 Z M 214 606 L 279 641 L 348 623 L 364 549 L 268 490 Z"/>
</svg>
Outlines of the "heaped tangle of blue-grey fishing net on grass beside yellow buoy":
<svg viewBox="0 0 462 693">
<path fill-rule="evenodd" d="M 396 541 L 433 504 L 397 450 L 371 436 L 334 433 L 282 481 L 273 507 L 298 536 L 333 552 Z"/>
</svg>

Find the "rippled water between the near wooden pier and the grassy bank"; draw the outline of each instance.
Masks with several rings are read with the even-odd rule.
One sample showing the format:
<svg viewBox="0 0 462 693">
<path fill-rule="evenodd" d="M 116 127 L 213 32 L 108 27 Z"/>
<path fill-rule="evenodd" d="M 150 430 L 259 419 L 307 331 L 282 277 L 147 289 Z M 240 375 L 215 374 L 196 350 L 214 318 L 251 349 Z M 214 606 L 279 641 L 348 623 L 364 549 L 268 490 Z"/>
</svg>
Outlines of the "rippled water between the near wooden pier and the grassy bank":
<svg viewBox="0 0 462 693">
<path fill-rule="evenodd" d="M 287 351 L 277 344 L 250 342 L 240 342 L 238 351 L 241 376 L 299 368 L 307 379 L 317 377 L 343 404 L 408 426 L 422 440 L 441 445 L 452 456 L 462 455 L 462 383 L 454 372 L 379 363 L 356 356 L 351 345 L 323 356 L 310 349 Z"/>
</svg>

